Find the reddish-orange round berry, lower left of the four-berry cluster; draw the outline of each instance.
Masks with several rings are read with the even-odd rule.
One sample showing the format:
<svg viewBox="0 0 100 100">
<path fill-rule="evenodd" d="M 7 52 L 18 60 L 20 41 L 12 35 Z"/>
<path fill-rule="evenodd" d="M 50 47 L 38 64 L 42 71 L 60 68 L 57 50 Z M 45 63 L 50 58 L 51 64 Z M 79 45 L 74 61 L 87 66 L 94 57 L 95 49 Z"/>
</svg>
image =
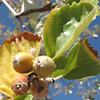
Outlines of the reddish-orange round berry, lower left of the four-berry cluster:
<svg viewBox="0 0 100 100">
<path fill-rule="evenodd" d="M 30 88 L 29 80 L 24 75 L 18 75 L 13 78 L 11 89 L 17 95 L 24 95 Z"/>
</svg>

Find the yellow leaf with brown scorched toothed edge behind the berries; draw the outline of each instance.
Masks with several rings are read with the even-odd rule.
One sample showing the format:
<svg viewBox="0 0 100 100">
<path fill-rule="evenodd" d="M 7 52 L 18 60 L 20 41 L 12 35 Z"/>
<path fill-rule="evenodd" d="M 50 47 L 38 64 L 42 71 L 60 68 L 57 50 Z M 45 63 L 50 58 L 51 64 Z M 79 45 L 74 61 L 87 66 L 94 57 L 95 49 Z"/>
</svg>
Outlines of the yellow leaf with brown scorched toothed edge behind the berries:
<svg viewBox="0 0 100 100">
<path fill-rule="evenodd" d="M 12 78 L 18 75 L 12 66 L 12 58 L 18 52 L 30 53 L 31 48 L 38 56 L 41 47 L 41 37 L 24 31 L 22 34 L 12 36 L 10 40 L 5 40 L 0 47 L 0 92 L 14 97 L 15 93 L 11 90 Z"/>
</svg>

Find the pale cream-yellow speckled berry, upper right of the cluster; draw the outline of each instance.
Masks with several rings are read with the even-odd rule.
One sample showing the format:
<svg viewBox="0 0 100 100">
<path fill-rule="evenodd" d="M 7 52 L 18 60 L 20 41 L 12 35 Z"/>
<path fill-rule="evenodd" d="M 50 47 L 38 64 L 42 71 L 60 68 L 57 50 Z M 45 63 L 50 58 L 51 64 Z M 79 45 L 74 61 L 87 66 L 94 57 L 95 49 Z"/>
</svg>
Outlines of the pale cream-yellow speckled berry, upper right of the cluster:
<svg viewBox="0 0 100 100">
<path fill-rule="evenodd" d="M 43 78 L 51 75 L 55 67 L 53 59 L 48 56 L 39 56 L 33 61 L 34 72 Z"/>
</svg>

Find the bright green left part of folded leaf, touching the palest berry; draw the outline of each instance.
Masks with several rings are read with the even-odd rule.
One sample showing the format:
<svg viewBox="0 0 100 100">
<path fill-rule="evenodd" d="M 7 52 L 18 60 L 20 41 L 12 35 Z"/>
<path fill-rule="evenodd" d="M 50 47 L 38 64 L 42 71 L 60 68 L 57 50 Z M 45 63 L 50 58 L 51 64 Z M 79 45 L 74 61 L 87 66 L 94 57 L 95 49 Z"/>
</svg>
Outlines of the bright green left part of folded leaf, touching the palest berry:
<svg viewBox="0 0 100 100">
<path fill-rule="evenodd" d="M 76 68 L 76 62 L 77 62 L 77 55 L 79 52 L 79 45 L 76 44 L 74 48 L 71 49 L 68 57 L 61 55 L 59 57 L 54 58 L 54 62 L 56 64 L 56 69 L 51 77 L 57 77 L 57 76 L 64 76 L 67 73 L 69 73 L 71 70 Z"/>
</svg>

